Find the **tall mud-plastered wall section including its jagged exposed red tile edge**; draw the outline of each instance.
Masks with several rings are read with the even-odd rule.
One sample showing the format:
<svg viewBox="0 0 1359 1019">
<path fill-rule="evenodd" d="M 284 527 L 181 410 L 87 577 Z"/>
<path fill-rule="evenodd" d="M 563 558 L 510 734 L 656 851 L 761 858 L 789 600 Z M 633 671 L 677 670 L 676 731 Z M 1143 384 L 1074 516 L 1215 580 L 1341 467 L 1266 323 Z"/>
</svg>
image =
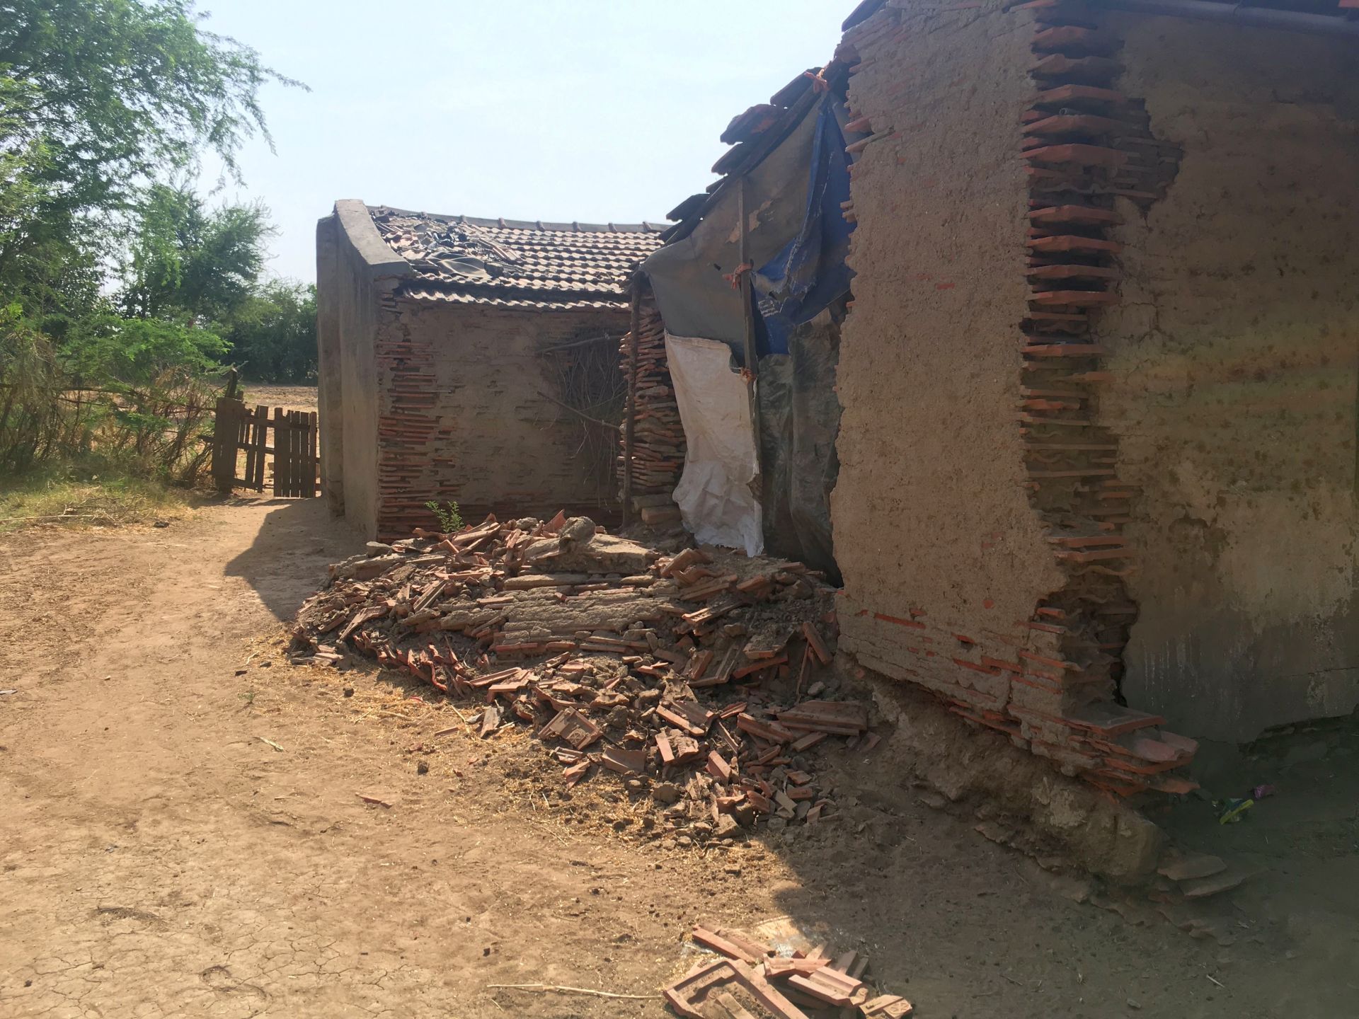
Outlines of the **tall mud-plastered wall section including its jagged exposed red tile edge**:
<svg viewBox="0 0 1359 1019">
<path fill-rule="evenodd" d="M 843 647 L 1068 774 L 1184 792 L 1193 742 L 1116 702 L 1129 488 L 1091 341 L 1106 230 L 1173 171 L 1110 87 L 1116 43 L 1027 8 L 889 1 L 845 35 L 875 141 L 840 363 Z"/>
</svg>

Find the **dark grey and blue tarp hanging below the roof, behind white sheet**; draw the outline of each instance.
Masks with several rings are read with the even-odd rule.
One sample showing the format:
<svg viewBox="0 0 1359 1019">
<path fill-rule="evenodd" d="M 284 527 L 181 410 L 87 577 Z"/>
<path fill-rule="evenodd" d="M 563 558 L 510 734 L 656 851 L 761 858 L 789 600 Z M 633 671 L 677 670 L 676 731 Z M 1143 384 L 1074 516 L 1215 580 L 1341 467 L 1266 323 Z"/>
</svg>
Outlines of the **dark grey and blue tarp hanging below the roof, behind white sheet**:
<svg viewBox="0 0 1359 1019">
<path fill-rule="evenodd" d="M 834 372 L 844 317 L 837 291 L 848 287 L 840 217 L 840 192 L 848 190 L 843 120 L 843 103 L 833 95 L 810 103 L 745 183 L 746 250 L 765 272 L 753 277 L 765 549 L 810 562 L 836 580 L 830 489 L 839 471 Z M 643 270 L 667 333 L 724 342 L 739 365 L 745 312 L 741 292 L 724 276 L 741 262 L 741 182 L 723 186 L 693 231 L 654 251 Z M 765 311 L 777 315 L 776 329 L 773 322 L 765 329 Z"/>
</svg>

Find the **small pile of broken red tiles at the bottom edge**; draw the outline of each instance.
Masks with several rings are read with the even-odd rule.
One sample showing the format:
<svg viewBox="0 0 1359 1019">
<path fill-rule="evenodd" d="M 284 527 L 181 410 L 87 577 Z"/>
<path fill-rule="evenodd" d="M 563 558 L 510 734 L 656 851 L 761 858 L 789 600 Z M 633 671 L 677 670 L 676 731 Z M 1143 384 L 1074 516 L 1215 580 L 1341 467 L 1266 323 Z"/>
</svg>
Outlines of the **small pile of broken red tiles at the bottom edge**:
<svg viewBox="0 0 1359 1019">
<path fill-rule="evenodd" d="M 696 927 L 693 940 L 718 954 L 665 988 L 666 1001 L 688 1019 L 810 1019 L 818 1015 L 901 1019 L 911 1003 L 879 995 L 864 980 L 868 961 L 834 957 L 821 944 L 791 957 L 741 931 Z"/>
</svg>

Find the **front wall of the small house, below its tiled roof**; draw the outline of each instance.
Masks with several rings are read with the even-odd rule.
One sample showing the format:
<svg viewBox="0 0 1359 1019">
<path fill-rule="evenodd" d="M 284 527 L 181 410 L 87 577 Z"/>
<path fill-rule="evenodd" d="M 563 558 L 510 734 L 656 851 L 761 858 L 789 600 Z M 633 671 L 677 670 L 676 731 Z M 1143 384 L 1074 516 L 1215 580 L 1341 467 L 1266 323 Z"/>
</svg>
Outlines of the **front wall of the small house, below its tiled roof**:
<svg viewBox="0 0 1359 1019">
<path fill-rule="evenodd" d="M 559 370 L 598 361 L 617 372 L 626 310 L 515 311 L 391 302 L 379 333 L 382 394 L 378 531 L 431 526 L 431 499 L 470 520 L 557 510 L 612 516 L 617 432 L 584 424 L 563 399 Z M 607 338 L 602 338 L 607 337 Z M 579 340 L 597 344 L 544 356 Z M 606 413 L 595 409 L 598 416 Z M 584 429 L 590 429 L 588 439 Z"/>
</svg>

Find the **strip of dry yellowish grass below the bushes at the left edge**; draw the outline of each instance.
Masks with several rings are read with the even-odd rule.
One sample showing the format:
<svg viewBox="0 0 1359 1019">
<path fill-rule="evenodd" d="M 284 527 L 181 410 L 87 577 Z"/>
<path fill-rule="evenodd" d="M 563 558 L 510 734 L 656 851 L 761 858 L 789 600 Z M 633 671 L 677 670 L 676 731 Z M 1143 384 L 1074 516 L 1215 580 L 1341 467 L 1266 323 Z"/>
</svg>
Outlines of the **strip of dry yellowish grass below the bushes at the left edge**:
<svg viewBox="0 0 1359 1019">
<path fill-rule="evenodd" d="M 0 478 L 0 534 L 24 527 L 126 527 L 193 512 L 194 493 L 135 477 Z"/>
</svg>

